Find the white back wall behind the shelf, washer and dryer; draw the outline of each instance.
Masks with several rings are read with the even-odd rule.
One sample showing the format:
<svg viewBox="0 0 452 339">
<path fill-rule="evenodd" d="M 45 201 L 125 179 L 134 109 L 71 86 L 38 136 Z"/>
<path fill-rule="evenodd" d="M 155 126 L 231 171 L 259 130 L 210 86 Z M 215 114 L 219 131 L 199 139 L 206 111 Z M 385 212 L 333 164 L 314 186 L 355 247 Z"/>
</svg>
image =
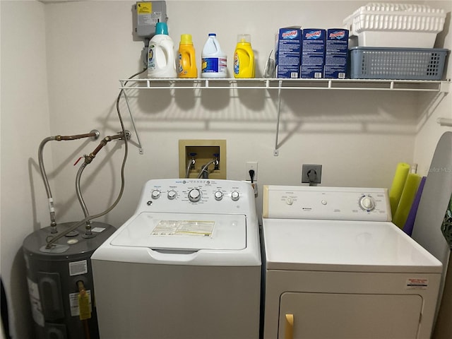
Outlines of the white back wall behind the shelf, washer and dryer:
<svg viewBox="0 0 452 339">
<path fill-rule="evenodd" d="M 366 3 L 168 1 L 169 34 L 176 44 L 182 33 L 193 35 L 199 59 L 208 32 L 217 32 L 231 67 L 237 34 L 249 32 L 256 50 L 256 73 L 261 74 L 278 28 L 342 26 L 345 16 Z M 105 6 L 105 1 L 88 1 L 47 5 L 52 133 L 98 128 L 105 136 L 119 130 L 114 109 L 119 79 L 138 71 L 143 48 L 142 42 L 133 41 L 133 4 L 109 1 Z M 323 165 L 323 185 L 389 186 L 397 162 L 412 161 L 420 114 L 412 93 L 287 91 L 283 94 L 282 145 L 280 155 L 274 157 L 275 93 L 258 90 L 230 97 L 227 91 L 194 95 L 189 90 L 142 90 L 129 94 L 145 153 L 139 155 L 137 148 L 131 147 L 124 198 L 106 218 L 114 225 L 121 225 L 133 212 L 145 181 L 177 176 L 181 138 L 227 139 L 228 179 L 246 179 L 245 162 L 258 161 L 260 190 L 262 184 L 300 184 L 303 163 Z M 124 103 L 121 107 L 131 130 Z M 75 144 L 58 145 L 55 163 L 69 164 L 95 145 L 89 143 L 77 152 Z M 107 149 L 113 151 L 102 150 L 84 174 L 90 182 L 84 192 L 92 213 L 112 203 L 119 189 L 124 148 L 112 143 Z M 95 172 L 100 164 L 102 173 Z M 73 189 L 76 170 L 61 167 L 55 178 L 63 221 L 81 218 Z"/>
</svg>

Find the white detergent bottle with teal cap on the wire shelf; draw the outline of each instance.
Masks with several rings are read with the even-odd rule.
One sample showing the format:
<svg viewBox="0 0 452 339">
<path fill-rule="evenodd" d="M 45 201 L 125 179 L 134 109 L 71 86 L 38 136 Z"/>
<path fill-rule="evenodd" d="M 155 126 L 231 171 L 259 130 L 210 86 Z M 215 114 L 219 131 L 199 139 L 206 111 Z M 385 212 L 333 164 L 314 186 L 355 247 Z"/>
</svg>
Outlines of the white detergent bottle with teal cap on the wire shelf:
<svg viewBox="0 0 452 339">
<path fill-rule="evenodd" d="M 167 23 L 157 23 L 149 41 L 148 77 L 177 78 L 174 42 L 168 35 Z"/>
</svg>

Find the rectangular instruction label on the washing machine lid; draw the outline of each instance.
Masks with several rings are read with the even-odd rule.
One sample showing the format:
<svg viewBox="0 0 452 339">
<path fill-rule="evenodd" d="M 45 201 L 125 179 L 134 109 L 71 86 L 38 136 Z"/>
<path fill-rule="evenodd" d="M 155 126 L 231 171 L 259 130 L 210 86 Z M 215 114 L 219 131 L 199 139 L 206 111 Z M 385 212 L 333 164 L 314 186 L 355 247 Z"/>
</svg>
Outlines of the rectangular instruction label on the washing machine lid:
<svg viewBox="0 0 452 339">
<path fill-rule="evenodd" d="M 160 220 L 151 235 L 182 235 L 211 237 L 215 221 L 206 220 Z"/>
</svg>

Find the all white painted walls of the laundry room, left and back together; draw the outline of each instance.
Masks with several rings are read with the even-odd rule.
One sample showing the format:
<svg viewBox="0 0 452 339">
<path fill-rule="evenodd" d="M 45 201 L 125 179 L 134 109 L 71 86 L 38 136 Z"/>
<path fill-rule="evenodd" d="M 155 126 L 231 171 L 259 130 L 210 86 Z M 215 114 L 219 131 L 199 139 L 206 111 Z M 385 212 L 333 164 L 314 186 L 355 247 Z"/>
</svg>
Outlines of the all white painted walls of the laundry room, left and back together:
<svg viewBox="0 0 452 339">
<path fill-rule="evenodd" d="M 181 34 L 193 35 L 200 59 L 208 32 L 216 32 L 231 70 L 237 34 L 250 33 L 260 75 L 278 28 L 341 27 L 345 16 L 367 2 L 169 0 L 169 35 L 176 45 Z M 49 222 L 35 165 L 37 146 L 49 135 L 99 129 L 103 137 L 119 131 L 114 107 L 119 79 L 140 69 L 143 42 L 133 40 L 135 1 L 0 4 L 1 275 L 13 290 L 17 316 L 29 314 L 23 304 L 28 296 L 21 242 Z M 450 1 L 435 4 L 451 11 Z M 450 13 L 448 18 L 450 23 Z M 448 48 L 450 36 L 446 35 Z M 451 107 L 450 95 L 434 113 L 425 114 L 432 94 L 287 91 L 283 93 L 280 155 L 275 157 L 275 93 L 141 90 L 129 96 L 144 154 L 138 154 L 133 135 L 124 196 L 100 220 L 114 226 L 133 213 L 145 181 L 177 177 L 179 139 L 226 139 L 228 179 L 246 179 L 245 162 L 258 161 L 260 192 L 262 184 L 300 184 L 303 163 L 323 165 L 323 186 L 388 187 L 397 162 L 416 161 L 420 167 L 429 163 L 436 145 L 431 138 L 439 138 L 444 130 L 435 117 L 450 114 Z M 124 100 L 121 112 L 126 128 L 132 131 Z M 8 149 L 13 142 L 19 152 Z M 52 154 L 47 169 L 54 183 L 59 222 L 83 217 L 74 186 L 78 166 L 72 164 L 97 144 L 55 143 L 47 150 Z M 85 169 L 82 188 L 91 213 L 104 210 L 116 198 L 123 154 L 124 145 L 112 141 Z M 261 195 L 256 203 L 260 212 Z M 28 328 L 16 322 L 17 338 L 29 338 L 24 334 Z"/>
</svg>

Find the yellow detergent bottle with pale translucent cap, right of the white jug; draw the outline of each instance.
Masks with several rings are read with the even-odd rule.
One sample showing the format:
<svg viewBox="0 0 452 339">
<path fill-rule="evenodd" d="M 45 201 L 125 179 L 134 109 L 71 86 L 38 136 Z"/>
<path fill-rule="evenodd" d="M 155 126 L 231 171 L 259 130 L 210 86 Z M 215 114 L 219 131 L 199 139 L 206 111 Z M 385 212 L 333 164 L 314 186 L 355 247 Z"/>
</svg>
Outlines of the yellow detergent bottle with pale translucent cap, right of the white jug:
<svg viewBox="0 0 452 339">
<path fill-rule="evenodd" d="M 239 34 L 234 52 L 234 78 L 254 78 L 254 52 L 251 35 Z"/>
</svg>

